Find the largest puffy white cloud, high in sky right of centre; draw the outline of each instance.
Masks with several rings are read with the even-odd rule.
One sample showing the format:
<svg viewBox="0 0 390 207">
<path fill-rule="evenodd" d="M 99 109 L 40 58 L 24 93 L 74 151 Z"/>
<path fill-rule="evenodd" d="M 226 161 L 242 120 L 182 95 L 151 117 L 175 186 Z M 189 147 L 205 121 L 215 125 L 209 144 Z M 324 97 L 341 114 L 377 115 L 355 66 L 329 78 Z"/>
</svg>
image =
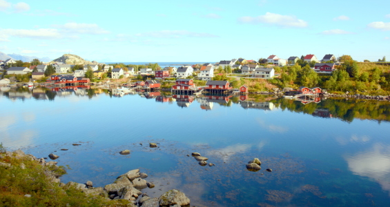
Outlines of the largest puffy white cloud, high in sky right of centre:
<svg viewBox="0 0 390 207">
<path fill-rule="evenodd" d="M 265 23 L 272 26 L 280 26 L 280 27 L 293 27 L 293 28 L 306 28 L 308 23 L 302 19 L 298 19 L 292 15 L 282 15 L 282 14 L 274 14 L 271 12 L 266 12 L 266 14 L 261 15 L 259 17 L 240 17 L 238 19 L 241 23 Z"/>
</svg>

